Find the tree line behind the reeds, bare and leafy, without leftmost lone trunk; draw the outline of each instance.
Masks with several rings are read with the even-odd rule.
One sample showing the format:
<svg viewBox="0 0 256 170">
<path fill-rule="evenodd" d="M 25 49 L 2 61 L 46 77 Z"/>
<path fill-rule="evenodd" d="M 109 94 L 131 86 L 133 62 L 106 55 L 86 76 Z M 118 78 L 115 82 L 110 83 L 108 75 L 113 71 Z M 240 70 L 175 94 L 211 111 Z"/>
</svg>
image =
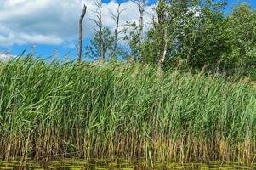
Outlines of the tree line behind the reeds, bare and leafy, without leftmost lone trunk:
<svg viewBox="0 0 256 170">
<path fill-rule="evenodd" d="M 141 20 L 147 12 L 145 1 L 134 2 L 138 4 Z M 100 51 L 109 51 L 109 54 L 104 53 L 105 61 L 113 58 L 111 51 L 117 41 L 111 39 L 115 37 L 122 39 L 119 53 L 115 53 L 116 59 L 159 65 L 162 70 L 182 64 L 194 71 L 205 68 L 213 74 L 236 74 L 255 80 L 256 11 L 249 4 L 241 3 L 227 14 L 226 4 L 213 0 L 159 0 L 144 36 L 141 29 L 145 26 L 141 22 L 125 26 L 117 22 L 118 32 L 122 34 L 117 35 L 107 28 L 103 29 L 105 31 L 95 30 L 85 54 L 97 59 L 102 55 Z M 122 18 L 122 14 L 117 14 L 118 19 Z M 97 18 L 101 19 L 101 13 Z M 98 21 L 97 26 L 103 26 L 103 22 Z M 92 49 L 95 52 L 89 53 Z"/>
</svg>

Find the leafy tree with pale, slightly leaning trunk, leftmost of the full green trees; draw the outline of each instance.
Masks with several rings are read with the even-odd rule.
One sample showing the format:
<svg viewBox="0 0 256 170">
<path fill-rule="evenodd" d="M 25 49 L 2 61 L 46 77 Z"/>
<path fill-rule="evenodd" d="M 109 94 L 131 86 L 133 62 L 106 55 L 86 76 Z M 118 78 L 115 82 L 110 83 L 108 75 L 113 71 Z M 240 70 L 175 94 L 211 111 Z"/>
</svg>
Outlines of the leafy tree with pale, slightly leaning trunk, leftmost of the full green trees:
<svg viewBox="0 0 256 170">
<path fill-rule="evenodd" d="M 173 51 L 176 18 L 173 3 L 161 0 L 155 8 L 152 28 L 147 32 L 147 39 L 143 44 L 143 56 L 147 63 L 162 67 L 166 57 Z"/>
</svg>

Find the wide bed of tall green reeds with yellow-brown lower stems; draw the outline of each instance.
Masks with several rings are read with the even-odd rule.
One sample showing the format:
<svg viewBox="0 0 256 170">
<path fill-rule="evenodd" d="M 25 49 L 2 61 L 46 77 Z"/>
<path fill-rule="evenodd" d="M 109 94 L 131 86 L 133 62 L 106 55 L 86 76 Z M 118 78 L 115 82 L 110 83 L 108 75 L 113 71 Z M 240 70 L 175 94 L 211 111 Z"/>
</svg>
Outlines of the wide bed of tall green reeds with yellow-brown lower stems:
<svg viewBox="0 0 256 170">
<path fill-rule="evenodd" d="M 248 82 L 149 65 L 0 64 L 0 157 L 245 161 L 256 154 Z"/>
</svg>

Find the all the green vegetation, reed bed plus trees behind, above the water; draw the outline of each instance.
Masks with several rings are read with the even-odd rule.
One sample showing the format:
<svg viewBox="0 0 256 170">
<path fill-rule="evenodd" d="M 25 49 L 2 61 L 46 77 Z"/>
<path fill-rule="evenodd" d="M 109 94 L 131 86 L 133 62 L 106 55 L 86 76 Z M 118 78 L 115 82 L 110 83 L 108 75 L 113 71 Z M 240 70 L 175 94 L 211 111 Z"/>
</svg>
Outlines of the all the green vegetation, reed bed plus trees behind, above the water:
<svg viewBox="0 0 256 170">
<path fill-rule="evenodd" d="M 0 158 L 253 164 L 255 10 L 242 3 L 225 15 L 212 0 L 159 0 L 145 31 L 146 4 L 137 4 L 139 26 L 120 23 L 119 4 L 112 32 L 95 3 L 83 56 L 99 63 L 0 62 Z"/>
</svg>

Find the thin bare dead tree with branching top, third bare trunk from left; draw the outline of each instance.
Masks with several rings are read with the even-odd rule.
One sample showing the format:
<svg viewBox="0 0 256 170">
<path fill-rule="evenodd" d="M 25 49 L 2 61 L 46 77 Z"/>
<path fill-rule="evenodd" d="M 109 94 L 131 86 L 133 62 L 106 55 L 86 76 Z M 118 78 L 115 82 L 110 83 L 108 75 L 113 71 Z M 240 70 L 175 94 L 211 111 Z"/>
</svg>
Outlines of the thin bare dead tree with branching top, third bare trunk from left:
<svg viewBox="0 0 256 170">
<path fill-rule="evenodd" d="M 121 3 L 118 3 L 118 6 L 116 8 L 116 14 L 114 14 L 113 12 L 110 12 L 112 20 L 114 20 L 116 23 L 116 27 L 115 27 L 115 31 L 114 31 L 114 47 L 113 47 L 113 56 L 112 56 L 115 58 L 117 58 L 118 36 L 122 32 L 122 30 L 120 30 L 120 27 L 122 26 L 120 24 L 120 16 L 121 16 L 122 12 L 124 12 L 125 10 L 126 9 L 121 9 Z"/>
</svg>

